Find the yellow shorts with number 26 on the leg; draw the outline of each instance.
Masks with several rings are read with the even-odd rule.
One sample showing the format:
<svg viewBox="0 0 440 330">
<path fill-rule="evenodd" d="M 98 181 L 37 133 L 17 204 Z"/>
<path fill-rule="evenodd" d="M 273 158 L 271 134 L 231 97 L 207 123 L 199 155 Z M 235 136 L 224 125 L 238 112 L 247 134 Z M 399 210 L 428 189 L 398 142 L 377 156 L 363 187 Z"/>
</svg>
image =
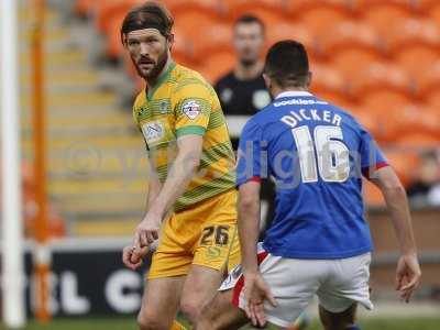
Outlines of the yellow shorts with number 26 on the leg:
<svg viewBox="0 0 440 330">
<path fill-rule="evenodd" d="M 187 275 L 191 265 L 228 272 L 240 263 L 235 189 L 164 221 L 148 278 Z"/>
</svg>

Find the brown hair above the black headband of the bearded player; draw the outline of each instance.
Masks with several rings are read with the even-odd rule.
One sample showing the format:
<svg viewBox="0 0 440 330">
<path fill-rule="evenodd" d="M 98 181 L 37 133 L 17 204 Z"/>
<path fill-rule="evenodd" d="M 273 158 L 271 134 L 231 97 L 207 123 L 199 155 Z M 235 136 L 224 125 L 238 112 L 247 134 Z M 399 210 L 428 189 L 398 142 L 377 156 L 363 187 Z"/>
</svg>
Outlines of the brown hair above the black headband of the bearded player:
<svg viewBox="0 0 440 330">
<path fill-rule="evenodd" d="M 129 32 L 143 29 L 157 29 L 162 35 L 168 37 L 172 33 L 174 19 L 163 4 L 147 1 L 135 7 L 125 15 L 121 26 L 121 41 L 125 43 Z"/>
</svg>

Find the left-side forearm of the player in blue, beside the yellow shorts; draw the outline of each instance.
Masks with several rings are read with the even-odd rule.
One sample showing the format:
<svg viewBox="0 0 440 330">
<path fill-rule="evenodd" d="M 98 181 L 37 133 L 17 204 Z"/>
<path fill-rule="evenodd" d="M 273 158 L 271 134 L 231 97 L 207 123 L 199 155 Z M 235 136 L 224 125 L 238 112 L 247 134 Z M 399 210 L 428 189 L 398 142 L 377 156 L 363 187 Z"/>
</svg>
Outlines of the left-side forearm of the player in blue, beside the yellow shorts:
<svg viewBox="0 0 440 330">
<path fill-rule="evenodd" d="M 260 201 L 257 199 L 244 198 L 241 194 L 239 199 L 239 238 L 242 253 L 242 265 L 244 272 L 257 271 L 256 244 L 260 233 Z"/>
</svg>

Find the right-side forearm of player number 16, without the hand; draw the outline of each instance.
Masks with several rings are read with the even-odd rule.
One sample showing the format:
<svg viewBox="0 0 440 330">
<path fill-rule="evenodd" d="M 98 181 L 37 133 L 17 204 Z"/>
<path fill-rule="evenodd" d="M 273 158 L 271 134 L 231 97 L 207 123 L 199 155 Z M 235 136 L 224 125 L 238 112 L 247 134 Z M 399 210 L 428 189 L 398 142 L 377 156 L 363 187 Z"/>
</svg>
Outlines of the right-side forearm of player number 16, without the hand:
<svg viewBox="0 0 440 330">
<path fill-rule="evenodd" d="M 416 242 L 405 189 L 400 185 L 395 185 L 393 187 L 385 187 L 382 191 L 392 217 L 402 253 L 416 253 Z"/>
</svg>

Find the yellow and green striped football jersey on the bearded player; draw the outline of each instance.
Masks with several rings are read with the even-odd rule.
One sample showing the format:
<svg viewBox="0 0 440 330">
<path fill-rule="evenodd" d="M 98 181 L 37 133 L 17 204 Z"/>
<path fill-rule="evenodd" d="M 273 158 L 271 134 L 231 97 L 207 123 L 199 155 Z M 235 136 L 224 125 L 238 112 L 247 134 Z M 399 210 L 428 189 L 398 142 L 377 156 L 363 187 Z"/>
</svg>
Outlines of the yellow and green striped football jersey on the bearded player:
<svg viewBox="0 0 440 330">
<path fill-rule="evenodd" d="M 133 117 L 162 183 L 177 155 L 177 139 L 204 136 L 198 173 L 175 204 L 176 211 L 234 188 L 235 155 L 226 119 L 216 91 L 200 74 L 173 63 L 152 90 L 138 96 Z"/>
</svg>

